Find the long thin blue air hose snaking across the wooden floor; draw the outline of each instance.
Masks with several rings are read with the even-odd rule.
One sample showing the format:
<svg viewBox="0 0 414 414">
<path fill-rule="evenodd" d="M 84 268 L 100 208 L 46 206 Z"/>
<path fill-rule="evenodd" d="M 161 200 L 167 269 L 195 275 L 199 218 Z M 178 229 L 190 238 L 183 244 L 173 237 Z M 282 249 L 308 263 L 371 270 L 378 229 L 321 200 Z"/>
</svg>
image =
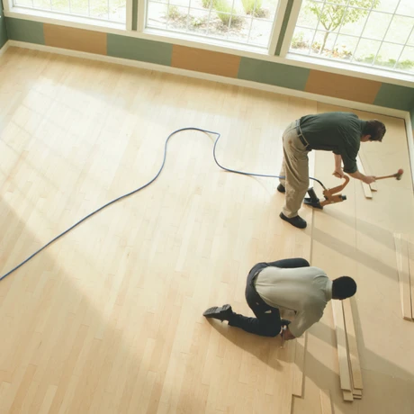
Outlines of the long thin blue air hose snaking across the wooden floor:
<svg viewBox="0 0 414 414">
<path fill-rule="evenodd" d="M 96 209 L 95 211 L 90 212 L 89 214 L 87 214 L 83 219 L 76 221 L 76 223 L 69 227 L 68 229 L 66 229 L 65 231 L 63 231 L 62 233 L 60 233 L 58 236 L 56 236 L 55 238 L 52 238 L 49 243 L 45 244 L 43 247 L 40 247 L 39 250 L 37 250 L 36 252 L 34 252 L 30 257 L 27 257 L 25 260 L 23 260 L 23 262 L 17 266 L 15 266 L 12 270 L 10 270 L 9 272 L 7 272 L 6 274 L 4 274 L 3 276 L 0 277 L 0 281 L 2 281 L 4 278 L 6 278 L 8 275 L 11 275 L 12 273 L 14 273 L 15 270 L 17 270 L 19 267 L 22 267 L 24 264 L 26 264 L 29 260 L 31 260 L 31 258 L 35 257 L 36 255 L 38 255 L 42 250 L 44 250 L 46 247 L 49 247 L 52 243 L 54 243 L 56 240 L 58 240 L 58 238 L 61 238 L 62 236 L 65 236 L 65 234 L 67 234 L 70 230 L 75 229 L 76 226 L 78 226 L 80 223 L 84 222 L 85 220 L 89 219 L 90 217 L 92 217 L 94 214 L 96 214 L 99 211 L 102 211 L 103 209 L 105 209 L 106 207 L 110 206 L 111 204 L 113 204 L 114 202 L 119 202 L 120 200 L 129 197 L 130 195 L 134 194 L 134 193 L 138 193 L 140 190 L 143 190 L 145 187 L 148 187 L 149 184 L 152 184 L 157 177 L 161 174 L 161 171 L 164 168 L 164 165 L 166 164 L 166 146 L 168 144 L 168 140 L 175 135 L 178 132 L 182 132 L 183 130 L 199 130 L 200 132 L 205 132 L 207 134 L 212 134 L 212 135 L 217 135 L 217 139 L 214 142 L 214 147 L 212 150 L 212 155 L 214 157 L 214 161 L 216 162 L 216 164 L 218 166 L 220 166 L 220 168 L 224 169 L 225 171 L 229 171 L 230 173 L 236 173 L 236 174 L 242 174 L 242 175 L 254 175 L 254 176 L 264 176 L 264 177 L 269 177 L 269 178 L 284 178 L 283 175 L 266 175 L 266 174 L 256 174 L 256 173 L 247 173 L 247 172 L 243 172 L 243 171 L 238 171 L 235 169 L 230 169 L 230 168 L 226 168 L 225 166 L 221 166 L 219 161 L 217 160 L 216 157 L 216 147 L 217 147 L 217 143 L 219 142 L 220 139 L 220 133 L 219 132 L 214 132 L 212 130 L 202 130 L 201 128 L 193 128 L 193 127 L 187 127 L 187 128 L 181 128 L 179 130 L 175 130 L 174 132 L 171 132 L 168 135 L 168 138 L 166 139 L 166 143 L 164 144 L 164 157 L 161 163 L 161 166 L 158 169 L 157 174 L 154 176 L 154 178 L 152 178 L 150 181 L 148 181 L 147 184 L 141 185 L 139 188 L 137 188 L 136 190 L 131 191 L 130 193 L 126 193 L 121 195 L 118 198 L 113 199 L 111 202 L 107 202 L 106 204 L 104 204 L 102 207 L 99 207 L 98 209 Z M 323 188 L 325 188 L 325 186 L 320 182 L 320 180 L 310 177 L 311 180 L 314 180 L 316 182 L 318 182 L 320 185 L 322 185 Z"/>
</svg>

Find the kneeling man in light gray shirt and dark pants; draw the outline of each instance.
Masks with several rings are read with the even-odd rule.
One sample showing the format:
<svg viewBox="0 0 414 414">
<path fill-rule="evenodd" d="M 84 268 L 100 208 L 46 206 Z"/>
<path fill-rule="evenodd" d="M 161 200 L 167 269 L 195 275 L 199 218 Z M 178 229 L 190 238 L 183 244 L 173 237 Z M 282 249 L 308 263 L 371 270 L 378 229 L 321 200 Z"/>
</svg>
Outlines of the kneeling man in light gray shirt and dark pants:
<svg viewBox="0 0 414 414">
<path fill-rule="evenodd" d="M 356 282 L 348 276 L 331 281 L 323 270 L 311 267 L 303 258 L 258 263 L 247 276 L 246 300 L 256 318 L 233 312 L 229 304 L 214 306 L 206 318 L 227 320 L 229 325 L 263 337 L 300 337 L 320 320 L 331 299 L 343 300 L 356 293 Z M 281 320 L 280 310 L 295 311 L 290 320 Z M 285 330 L 284 330 L 285 329 Z"/>
</svg>

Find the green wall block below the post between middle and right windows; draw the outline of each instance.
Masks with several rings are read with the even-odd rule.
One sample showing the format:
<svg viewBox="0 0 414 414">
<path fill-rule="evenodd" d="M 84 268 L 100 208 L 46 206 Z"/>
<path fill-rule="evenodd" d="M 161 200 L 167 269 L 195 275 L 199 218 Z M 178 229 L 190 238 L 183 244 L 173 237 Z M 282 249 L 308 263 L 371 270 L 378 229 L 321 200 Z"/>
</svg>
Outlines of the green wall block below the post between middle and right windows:
<svg viewBox="0 0 414 414">
<path fill-rule="evenodd" d="M 310 69 L 294 67 L 280 63 L 241 58 L 238 67 L 238 78 L 260 82 L 262 84 L 288 87 L 290 89 L 305 89 Z"/>
</svg>

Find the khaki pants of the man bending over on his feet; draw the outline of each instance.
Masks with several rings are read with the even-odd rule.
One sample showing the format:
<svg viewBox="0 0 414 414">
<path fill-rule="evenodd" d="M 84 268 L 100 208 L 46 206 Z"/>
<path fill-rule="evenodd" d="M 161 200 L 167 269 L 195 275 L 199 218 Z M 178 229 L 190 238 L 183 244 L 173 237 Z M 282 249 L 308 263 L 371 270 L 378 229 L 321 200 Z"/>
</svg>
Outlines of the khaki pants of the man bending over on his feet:
<svg viewBox="0 0 414 414">
<path fill-rule="evenodd" d="M 283 213 L 289 219 L 298 215 L 309 188 L 308 150 L 305 149 L 296 132 L 296 121 L 284 130 L 284 161 L 280 182 L 286 189 Z"/>
</svg>

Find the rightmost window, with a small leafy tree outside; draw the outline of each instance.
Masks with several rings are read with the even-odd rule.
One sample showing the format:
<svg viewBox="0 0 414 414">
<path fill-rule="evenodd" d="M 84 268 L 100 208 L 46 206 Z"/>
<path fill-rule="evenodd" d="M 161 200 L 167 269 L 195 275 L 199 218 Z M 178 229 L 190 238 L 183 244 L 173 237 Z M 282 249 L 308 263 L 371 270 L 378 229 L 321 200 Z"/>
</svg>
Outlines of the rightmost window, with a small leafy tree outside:
<svg viewBox="0 0 414 414">
<path fill-rule="evenodd" d="M 304 0 L 289 51 L 414 73 L 414 1 Z"/>
</svg>

